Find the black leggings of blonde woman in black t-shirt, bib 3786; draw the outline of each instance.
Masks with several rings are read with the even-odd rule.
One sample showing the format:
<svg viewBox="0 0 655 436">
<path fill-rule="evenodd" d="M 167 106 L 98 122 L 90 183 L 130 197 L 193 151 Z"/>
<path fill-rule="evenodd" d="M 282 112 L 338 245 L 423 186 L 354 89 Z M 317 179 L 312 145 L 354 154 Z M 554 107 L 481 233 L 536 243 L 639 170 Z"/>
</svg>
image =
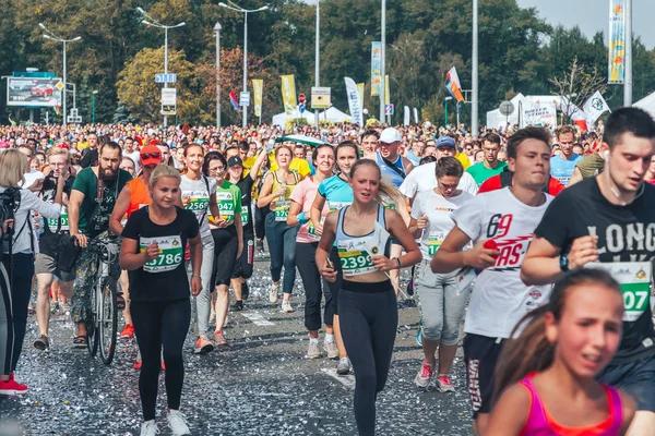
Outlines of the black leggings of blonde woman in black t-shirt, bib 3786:
<svg viewBox="0 0 655 436">
<path fill-rule="evenodd" d="M 168 409 L 180 409 L 184 383 L 182 346 L 191 323 L 191 303 L 189 299 L 165 302 L 132 301 L 130 312 L 143 362 L 139 376 L 143 420 L 151 421 L 155 419 L 162 346 L 166 364 Z"/>
</svg>

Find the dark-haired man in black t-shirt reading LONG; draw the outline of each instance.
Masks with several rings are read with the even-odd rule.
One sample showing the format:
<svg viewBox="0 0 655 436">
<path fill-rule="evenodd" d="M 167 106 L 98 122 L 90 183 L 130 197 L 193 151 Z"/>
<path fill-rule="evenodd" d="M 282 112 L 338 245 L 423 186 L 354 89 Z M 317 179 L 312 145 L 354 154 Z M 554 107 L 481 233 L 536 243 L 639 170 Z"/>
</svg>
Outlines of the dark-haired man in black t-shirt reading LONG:
<svg viewBox="0 0 655 436">
<path fill-rule="evenodd" d="M 527 284 L 549 284 L 585 266 L 612 271 L 622 284 L 623 334 L 598 379 L 636 400 L 628 435 L 653 435 L 655 329 L 650 283 L 655 186 L 645 183 L 644 175 L 655 155 L 655 121 L 638 108 L 618 109 L 607 119 L 603 142 L 604 171 L 552 202 L 535 230 L 521 278 Z"/>
</svg>

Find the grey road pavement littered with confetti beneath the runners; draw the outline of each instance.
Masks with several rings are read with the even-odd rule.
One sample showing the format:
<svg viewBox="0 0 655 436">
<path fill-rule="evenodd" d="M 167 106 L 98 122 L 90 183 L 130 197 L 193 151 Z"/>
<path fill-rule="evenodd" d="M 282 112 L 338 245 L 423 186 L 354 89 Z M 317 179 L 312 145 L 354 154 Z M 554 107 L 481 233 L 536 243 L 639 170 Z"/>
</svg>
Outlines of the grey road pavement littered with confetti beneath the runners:
<svg viewBox="0 0 655 436">
<path fill-rule="evenodd" d="M 191 335 L 187 339 L 181 411 L 192 434 L 356 435 L 354 376 L 337 376 L 335 361 L 305 358 L 308 340 L 300 281 L 291 314 L 269 304 L 267 263 L 255 264 L 250 282 L 246 310 L 229 314 L 225 329 L 229 347 L 193 355 Z M 400 311 L 389 382 L 378 397 L 378 434 L 471 435 L 461 354 L 452 372 L 456 392 L 414 386 L 422 355 L 415 340 L 418 318 L 416 307 Z M 36 318 L 31 315 L 16 372 L 16 379 L 25 383 L 29 392 L 0 397 L 0 436 L 139 435 L 139 373 L 132 368 L 136 344 L 120 341 L 114 363 L 105 366 L 85 350 L 72 349 L 67 316 L 53 317 L 50 336 L 50 351 L 32 347 Z M 162 435 L 169 435 L 165 397 L 162 376 L 157 422 Z"/>
</svg>

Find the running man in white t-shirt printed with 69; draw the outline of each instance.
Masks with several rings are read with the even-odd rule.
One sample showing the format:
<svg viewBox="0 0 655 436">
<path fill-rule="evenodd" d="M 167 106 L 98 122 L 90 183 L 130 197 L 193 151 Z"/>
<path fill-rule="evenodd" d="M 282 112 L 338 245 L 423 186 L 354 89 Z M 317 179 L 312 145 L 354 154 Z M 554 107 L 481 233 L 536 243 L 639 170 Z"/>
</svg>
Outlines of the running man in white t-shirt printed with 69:
<svg viewBox="0 0 655 436">
<path fill-rule="evenodd" d="M 468 267 L 481 270 L 464 323 L 466 383 L 477 436 L 486 434 L 493 372 L 504 341 L 526 312 L 548 301 L 550 292 L 549 286 L 526 287 L 520 278 L 535 227 L 552 201 L 543 192 L 550 174 L 549 141 L 548 132 L 538 128 L 510 137 L 512 185 L 477 195 L 455 210 L 455 227 L 430 264 L 439 274 Z"/>
</svg>

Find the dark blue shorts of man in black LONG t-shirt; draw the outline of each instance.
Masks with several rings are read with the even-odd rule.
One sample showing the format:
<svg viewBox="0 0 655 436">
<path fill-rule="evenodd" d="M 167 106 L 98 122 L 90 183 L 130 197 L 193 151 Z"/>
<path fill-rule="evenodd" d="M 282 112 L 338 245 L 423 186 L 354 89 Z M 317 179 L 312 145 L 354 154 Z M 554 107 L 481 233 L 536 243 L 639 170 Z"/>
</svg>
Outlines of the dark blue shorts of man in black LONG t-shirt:
<svg viewBox="0 0 655 436">
<path fill-rule="evenodd" d="M 655 412 L 655 355 L 608 365 L 597 378 L 634 398 L 636 410 Z"/>
</svg>

